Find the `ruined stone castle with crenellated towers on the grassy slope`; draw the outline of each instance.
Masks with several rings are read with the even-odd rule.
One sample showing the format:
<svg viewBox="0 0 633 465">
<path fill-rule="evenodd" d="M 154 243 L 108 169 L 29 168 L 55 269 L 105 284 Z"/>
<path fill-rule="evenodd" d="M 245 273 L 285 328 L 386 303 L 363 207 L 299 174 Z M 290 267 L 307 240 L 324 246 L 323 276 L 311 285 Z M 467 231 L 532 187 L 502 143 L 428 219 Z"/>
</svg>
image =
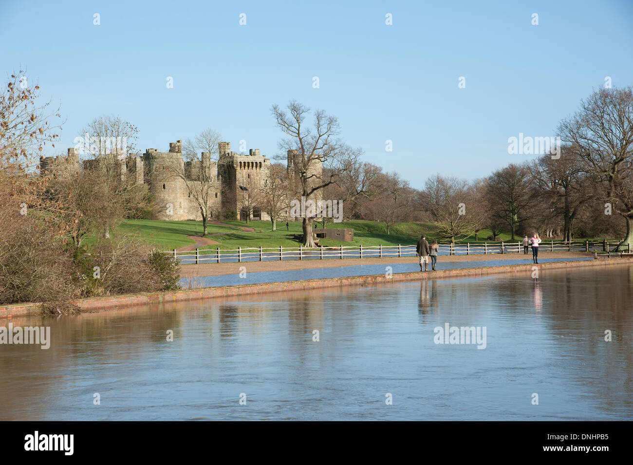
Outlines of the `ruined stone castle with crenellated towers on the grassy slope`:
<svg viewBox="0 0 633 465">
<path fill-rule="evenodd" d="M 245 196 L 250 195 L 253 187 L 263 187 L 270 178 L 270 159 L 261 155 L 259 149 L 251 149 L 248 155 L 239 154 L 231 151 L 230 142 L 220 142 L 218 162 L 211 161 L 207 152 L 202 153 L 201 160 L 184 161 L 182 140 L 177 140 L 170 142 L 169 152 L 147 149 L 141 156 L 114 154 L 120 166 L 116 170 L 121 170 L 122 179 L 149 187 L 157 207 L 154 213 L 156 220 L 202 219 L 191 190 L 199 189 L 201 181 L 197 179 L 204 169 L 211 173 L 208 220 L 220 220 L 231 210 L 238 220 L 246 220 L 247 214 L 250 220 L 270 220 L 256 200 L 251 204 L 252 208 L 241 208 Z M 294 156 L 296 151 L 287 152 L 288 168 L 292 167 Z M 94 169 L 98 163 L 98 159 L 87 159 L 80 165 L 78 149 L 70 148 L 67 157 L 41 158 L 40 169 L 41 173 L 63 173 L 63 170 L 78 171 L 80 166 L 84 170 Z M 174 172 L 184 173 L 185 179 L 175 176 Z M 320 177 L 321 172 L 322 166 L 318 164 L 315 173 Z"/>
</svg>

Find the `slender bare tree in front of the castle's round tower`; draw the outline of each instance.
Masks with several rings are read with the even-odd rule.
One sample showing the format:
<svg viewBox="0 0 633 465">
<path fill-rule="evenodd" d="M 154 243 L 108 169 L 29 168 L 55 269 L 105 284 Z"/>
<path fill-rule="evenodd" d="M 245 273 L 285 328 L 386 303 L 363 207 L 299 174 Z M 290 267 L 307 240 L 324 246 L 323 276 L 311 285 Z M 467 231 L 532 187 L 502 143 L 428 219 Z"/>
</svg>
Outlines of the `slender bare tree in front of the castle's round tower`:
<svg viewBox="0 0 633 465">
<path fill-rule="evenodd" d="M 211 195 L 221 189 L 218 177 L 218 144 L 222 140 L 220 133 L 211 128 L 185 140 L 183 157 L 185 163 L 173 163 L 170 168 L 172 177 L 180 178 L 191 192 L 191 198 L 200 209 L 203 224 L 203 236 L 208 235 L 208 219 L 211 211 Z"/>
</svg>

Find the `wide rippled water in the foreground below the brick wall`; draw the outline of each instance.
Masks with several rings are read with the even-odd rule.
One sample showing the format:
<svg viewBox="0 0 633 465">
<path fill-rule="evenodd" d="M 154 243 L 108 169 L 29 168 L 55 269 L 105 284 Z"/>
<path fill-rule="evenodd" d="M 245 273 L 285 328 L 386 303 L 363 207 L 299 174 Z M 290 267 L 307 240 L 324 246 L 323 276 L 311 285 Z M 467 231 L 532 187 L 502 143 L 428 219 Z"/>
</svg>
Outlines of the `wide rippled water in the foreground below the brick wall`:
<svg viewBox="0 0 633 465">
<path fill-rule="evenodd" d="M 632 302 L 624 265 L 14 318 L 51 349 L 0 345 L 0 419 L 632 419 Z"/>
</svg>

